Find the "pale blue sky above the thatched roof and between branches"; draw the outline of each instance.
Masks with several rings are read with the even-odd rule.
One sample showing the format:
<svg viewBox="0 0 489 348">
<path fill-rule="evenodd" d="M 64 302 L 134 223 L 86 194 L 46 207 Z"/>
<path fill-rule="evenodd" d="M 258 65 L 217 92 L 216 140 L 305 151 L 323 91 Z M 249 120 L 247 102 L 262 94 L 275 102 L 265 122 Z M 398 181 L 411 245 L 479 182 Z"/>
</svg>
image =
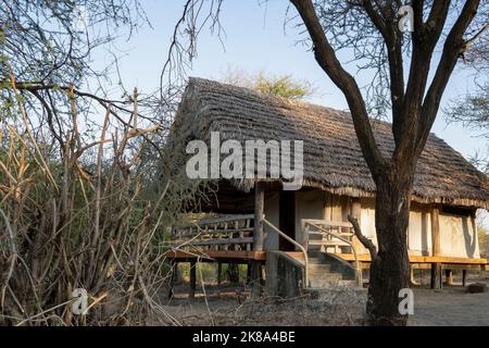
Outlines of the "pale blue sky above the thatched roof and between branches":
<svg viewBox="0 0 489 348">
<path fill-rule="evenodd" d="M 151 92 L 159 87 L 160 72 L 174 25 L 181 15 L 184 0 L 141 0 L 141 3 L 152 28 L 147 26 L 140 29 L 129 40 L 118 39 L 115 48 L 117 54 L 123 55 L 120 70 L 124 86 L 129 90 L 138 87 L 143 92 Z M 318 67 L 312 52 L 297 44 L 304 38 L 304 34 L 285 24 L 286 16 L 294 14 L 294 9 L 290 8 L 287 15 L 288 3 L 285 0 L 269 0 L 266 4 L 263 0 L 225 0 L 221 16 L 226 33 L 224 47 L 217 37 L 204 29 L 198 40 L 198 57 L 189 74 L 214 79 L 222 78 L 228 69 L 291 74 L 316 87 L 309 101 L 347 109 L 343 96 Z M 103 64 L 110 59 L 109 54 L 106 60 L 103 54 L 97 54 L 96 64 Z M 115 76 L 113 80 L 115 84 Z M 469 73 L 459 69 L 447 88 L 442 105 L 451 98 L 464 95 L 472 85 Z M 469 132 L 461 125 L 447 125 L 441 112 L 432 132 L 465 157 L 485 150 L 485 141 L 477 137 L 477 132 Z"/>
</svg>

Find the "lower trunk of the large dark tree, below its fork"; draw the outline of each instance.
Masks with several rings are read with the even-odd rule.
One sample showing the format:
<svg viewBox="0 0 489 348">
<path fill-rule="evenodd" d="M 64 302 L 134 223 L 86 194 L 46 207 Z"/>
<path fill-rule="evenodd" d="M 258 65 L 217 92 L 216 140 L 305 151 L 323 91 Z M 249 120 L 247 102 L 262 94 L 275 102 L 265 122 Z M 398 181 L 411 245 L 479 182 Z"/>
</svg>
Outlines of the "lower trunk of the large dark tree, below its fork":
<svg viewBox="0 0 489 348">
<path fill-rule="evenodd" d="M 366 311 L 372 325 L 405 325 L 399 290 L 409 287 L 408 225 L 413 170 L 389 167 L 376 179 L 378 253 L 371 264 Z"/>
</svg>

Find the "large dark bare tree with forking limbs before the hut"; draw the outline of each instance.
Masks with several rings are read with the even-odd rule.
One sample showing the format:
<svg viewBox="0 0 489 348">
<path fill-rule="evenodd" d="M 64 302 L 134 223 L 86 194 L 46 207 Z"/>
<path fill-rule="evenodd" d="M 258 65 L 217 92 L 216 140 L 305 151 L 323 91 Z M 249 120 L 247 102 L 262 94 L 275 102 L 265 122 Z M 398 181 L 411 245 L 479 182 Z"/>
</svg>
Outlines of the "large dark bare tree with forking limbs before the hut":
<svg viewBox="0 0 489 348">
<path fill-rule="evenodd" d="M 478 11 L 485 12 L 479 9 L 478 0 L 409 1 L 413 9 L 413 32 L 410 52 L 405 54 L 404 47 L 409 41 L 398 27 L 401 1 L 291 2 L 311 37 L 317 63 L 348 101 L 363 156 L 377 188 L 378 251 L 371 265 L 367 314 L 373 324 L 405 325 L 408 316 L 399 313 L 398 295 L 401 288 L 409 287 L 406 229 L 416 162 L 450 76 L 477 30 L 477 24 L 480 30 Z M 336 33 L 330 30 L 333 26 L 338 28 Z M 333 39 L 331 34 L 335 35 Z M 380 152 L 365 98 L 355 78 L 339 62 L 333 42 L 342 42 L 342 47 L 353 50 L 371 42 L 383 52 L 377 57 L 362 51 L 359 59 L 371 67 L 388 71 L 386 79 L 396 141 L 393 153 Z M 429 80 L 431 60 L 438 47 L 441 47 L 441 55 Z M 404 76 L 405 67 L 409 69 L 408 76 Z"/>
</svg>

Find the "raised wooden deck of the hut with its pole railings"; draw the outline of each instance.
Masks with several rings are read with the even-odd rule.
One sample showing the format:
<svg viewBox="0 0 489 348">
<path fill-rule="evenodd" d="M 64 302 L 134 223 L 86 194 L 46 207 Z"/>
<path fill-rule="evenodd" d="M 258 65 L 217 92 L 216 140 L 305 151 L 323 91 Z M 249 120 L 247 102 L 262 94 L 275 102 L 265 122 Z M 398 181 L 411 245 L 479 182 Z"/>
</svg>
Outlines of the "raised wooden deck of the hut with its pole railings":
<svg viewBox="0 0 489 348">
<path fill-rule="evenodd" d="M 354 233 L 347 222 L 302 220 L 305 250 L 333 253 L 355 268 L 368 269 L 371 256 L 356 253 L 353 247 Z M 171 250 L 165 256 L 174 262 L 264 262 L 266 251 L 253 247 L 255 222 L 253 214 L 214 217 L 175 227 L 172 231 Z M 253 250 L 254 249 L 254 250 Z M 260 250 L 260 251 L 258 251 Z M 301 251 L 287 252 L 292 258 L 304 258 Z M 486 259 L 410 256 L 414 269 L 462 269 L 489 270 Z"/>
</svg>

